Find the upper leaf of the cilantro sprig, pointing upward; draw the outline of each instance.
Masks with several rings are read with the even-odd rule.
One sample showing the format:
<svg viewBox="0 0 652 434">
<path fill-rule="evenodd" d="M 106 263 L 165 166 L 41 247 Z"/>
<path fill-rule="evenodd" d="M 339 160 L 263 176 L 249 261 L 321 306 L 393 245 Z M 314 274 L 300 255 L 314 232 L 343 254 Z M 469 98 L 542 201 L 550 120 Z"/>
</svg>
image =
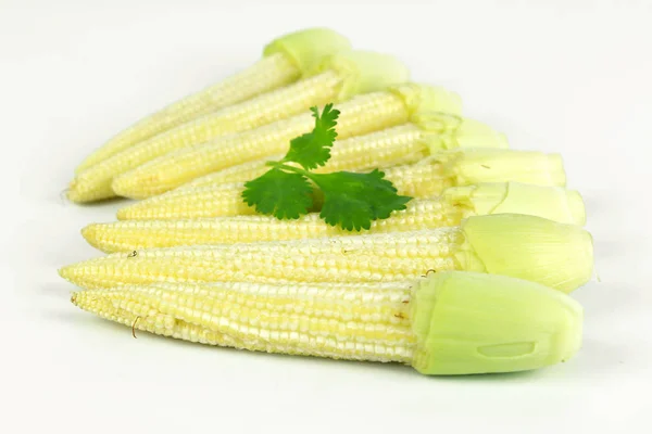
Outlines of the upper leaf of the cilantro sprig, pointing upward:
<svg viewBox="0 0 652 434">
<path fill-rule="evenodd" d="M 299 163 L 305 170 L 323 166 L 330 158 L 330 148 L 337 138 L 335 126 L 340 114 L 326 104 L 319 116 L 317 107 L 310 108 L 315 118 L 315 128 L 303 136 L 290 140 L 290 150 L 284 162 Z"/>
</svg>

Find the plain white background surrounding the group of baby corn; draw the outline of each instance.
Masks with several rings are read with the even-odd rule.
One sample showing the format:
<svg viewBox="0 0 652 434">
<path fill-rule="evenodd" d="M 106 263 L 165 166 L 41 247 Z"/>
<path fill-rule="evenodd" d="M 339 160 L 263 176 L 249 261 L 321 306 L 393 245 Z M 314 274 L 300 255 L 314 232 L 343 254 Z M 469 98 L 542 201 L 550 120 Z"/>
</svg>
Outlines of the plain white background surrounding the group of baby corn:
<svg viewBox="0 0 652 434">
<path fill-rule="evenodd" d="M 652 2 L 0 0 L 0 432 L 651 432 Z M 586 199 L 594 281 L 584 348 L 530 373 L 217 349 L 96 319 L 57 268 L 121 203 L 60 196 L 90 150 L 324 25 L 457 91 L 513 148 L 561 152 Z"/>
</svg>

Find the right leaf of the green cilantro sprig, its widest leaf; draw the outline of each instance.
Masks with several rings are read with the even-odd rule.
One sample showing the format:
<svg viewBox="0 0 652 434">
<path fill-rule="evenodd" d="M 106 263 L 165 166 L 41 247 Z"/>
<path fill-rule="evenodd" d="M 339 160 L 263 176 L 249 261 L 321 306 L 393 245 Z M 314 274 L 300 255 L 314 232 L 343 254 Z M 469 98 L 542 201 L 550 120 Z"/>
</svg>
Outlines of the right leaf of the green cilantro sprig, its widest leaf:
<svg viewBox="0 0 652 434">
<path fill-rule="evenodd" d="M 330 226 L 346 230 L 369 229 L 373 220 L 385 219 L 393 210 L 405 209 L 412 197 L 397 194 L 397 189 L 374 169 L 368 174 L 337 171 L 311 174 L 324 193 L 322 217 Z"/>
</svg>

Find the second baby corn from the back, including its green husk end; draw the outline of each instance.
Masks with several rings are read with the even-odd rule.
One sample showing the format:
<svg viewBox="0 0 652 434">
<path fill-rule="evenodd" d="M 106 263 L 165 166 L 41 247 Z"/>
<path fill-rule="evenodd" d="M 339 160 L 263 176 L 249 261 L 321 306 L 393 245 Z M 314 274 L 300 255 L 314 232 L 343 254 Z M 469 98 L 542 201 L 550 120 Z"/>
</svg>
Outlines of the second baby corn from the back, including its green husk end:
<svg viewBox="0 0 652 434">
<path fill-rule="evenodd" d="M 403 84 L 410 76 L 405 66 L 394 58 L 361 51 L 329 56 L 317 71 L 318 74 L 292 85 L 179 125 L 89 167 L 75 177 L 68 197 L 75 202 L 87 202 L 113 196 L 111 182 L 114 177 L 158 156 L 290 118 L 313 105 L 346 101 L 356 93 Z M 116 182 L 118 194 L 129 194 L 129 183 L 125 182 Z"/>
</svg>

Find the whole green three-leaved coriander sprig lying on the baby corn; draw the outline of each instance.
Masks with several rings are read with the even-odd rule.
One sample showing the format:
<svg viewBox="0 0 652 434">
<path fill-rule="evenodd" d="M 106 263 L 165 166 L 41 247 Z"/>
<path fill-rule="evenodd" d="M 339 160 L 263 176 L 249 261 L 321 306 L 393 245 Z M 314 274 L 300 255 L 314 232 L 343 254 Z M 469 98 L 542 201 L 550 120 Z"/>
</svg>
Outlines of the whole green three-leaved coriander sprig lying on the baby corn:
<svg viewBox="0 0 652 434">
<path fill-rule="evenodd" d="M 321 115 L 317 107 L 311 111 L 314 129 L 292 139 L 283 159 L 267 162 L 271 167 L 267 173 L 244 183 L 244 202 L 258 213 L 278 219 L 297 219 L 313 207 L 313 192 L 317 188 L 324 197 L 319 217 L 328 225 L 349 231 L 369 229 L 372 221 L 405 209 L 412 197 L 397 194 L 397 189 L 378 169 L 367 174 L 311 171 L 330 158 L 340 113 L 333 104 L 326 104 Z"/>
</svg>

